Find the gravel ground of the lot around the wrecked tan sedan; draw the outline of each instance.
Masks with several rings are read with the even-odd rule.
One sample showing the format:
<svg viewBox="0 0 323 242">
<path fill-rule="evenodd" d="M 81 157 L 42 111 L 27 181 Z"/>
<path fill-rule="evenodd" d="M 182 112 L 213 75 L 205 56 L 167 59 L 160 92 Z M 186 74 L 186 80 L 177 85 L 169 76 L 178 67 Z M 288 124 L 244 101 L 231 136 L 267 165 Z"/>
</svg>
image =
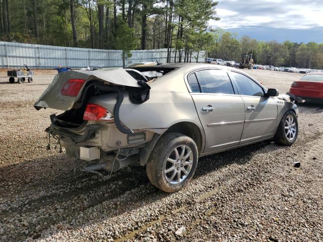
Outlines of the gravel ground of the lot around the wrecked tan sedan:
<svg viewBox="0 0 323 242">
<path fill-rule="evenodd" d="M 281 93 L 302 76 L 245 72 Z M 262 142 L 201 158 L 191 183 L 166 194 L 139 165 L 104 180 L 74 174 L 55 144 L 46 150 L 43 131 L 55 110 L 33 103 L 54 74 L 9 84 L 0 71 L 0 241 L 323 240 L 321 107 L 300 106 L 292 147 Z"/>
</svg>

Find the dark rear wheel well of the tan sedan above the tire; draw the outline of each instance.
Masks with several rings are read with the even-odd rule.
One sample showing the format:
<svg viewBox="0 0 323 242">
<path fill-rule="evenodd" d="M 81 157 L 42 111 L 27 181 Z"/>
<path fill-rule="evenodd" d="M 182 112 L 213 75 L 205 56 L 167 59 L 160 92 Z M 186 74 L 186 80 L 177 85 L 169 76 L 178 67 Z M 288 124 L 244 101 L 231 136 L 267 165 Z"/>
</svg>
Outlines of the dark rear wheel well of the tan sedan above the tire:
<svg viewBox="0 0 323 242">
<path fill-rule="evenodd" d="M 197 125 L 190 122 L 180 122 L 172 125 L 166 132 L 167 133 L 180 133 L 190 137 L 194 140 L 198 153 L 201 153 L 202 149 L 202 134 Z"/>
</svg>

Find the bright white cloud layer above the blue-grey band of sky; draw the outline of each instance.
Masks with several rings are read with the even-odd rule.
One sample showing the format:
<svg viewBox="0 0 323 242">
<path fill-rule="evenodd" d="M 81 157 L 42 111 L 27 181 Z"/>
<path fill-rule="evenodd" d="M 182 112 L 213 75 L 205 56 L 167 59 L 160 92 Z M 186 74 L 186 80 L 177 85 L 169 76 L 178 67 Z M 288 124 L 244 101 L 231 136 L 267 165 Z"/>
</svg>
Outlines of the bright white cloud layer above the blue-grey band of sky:
<svg viewBox="0 0 323 242">
<path fill-rule="evenodd" d="M 219 0 L 216 8 L 219 21 L 211 26 L 244 28 L 264 26 L 287 29 L 308 29 L 323 26 L 323 4 L 315 0 Z M 219 7 L 219 8 L 218 8 Z"/>
</svg>

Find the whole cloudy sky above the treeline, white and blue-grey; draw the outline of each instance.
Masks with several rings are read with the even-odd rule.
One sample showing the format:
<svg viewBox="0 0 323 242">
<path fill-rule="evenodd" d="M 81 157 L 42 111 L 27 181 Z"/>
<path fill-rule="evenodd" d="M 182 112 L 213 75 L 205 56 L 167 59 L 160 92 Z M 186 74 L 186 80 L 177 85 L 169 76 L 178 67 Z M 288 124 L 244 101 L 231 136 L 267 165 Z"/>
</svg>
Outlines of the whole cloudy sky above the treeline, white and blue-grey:
<svg viewBox="0 0 323 242">
<path fill-rule="evenodd" d="M 213 28 L 258 40 L 323 43 L 323 0 L 218 0 Z"/>
</svg>

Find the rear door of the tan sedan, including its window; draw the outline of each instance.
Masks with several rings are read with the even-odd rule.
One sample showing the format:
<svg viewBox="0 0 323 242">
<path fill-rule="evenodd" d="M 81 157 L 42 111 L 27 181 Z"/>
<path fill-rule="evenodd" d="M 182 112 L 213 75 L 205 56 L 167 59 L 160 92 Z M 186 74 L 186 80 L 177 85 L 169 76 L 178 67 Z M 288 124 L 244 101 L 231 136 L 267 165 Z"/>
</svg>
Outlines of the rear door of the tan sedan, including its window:
<svg viewBox="0 0 323 242">
<path fill-rule="evenodd" d="M 227 72 L 199 70 L 189 74 L 187 82 L 205 132 L 204 152 L 238 145 L 244 124 L 244 103 L 236 95 Z"/>
</svg>

